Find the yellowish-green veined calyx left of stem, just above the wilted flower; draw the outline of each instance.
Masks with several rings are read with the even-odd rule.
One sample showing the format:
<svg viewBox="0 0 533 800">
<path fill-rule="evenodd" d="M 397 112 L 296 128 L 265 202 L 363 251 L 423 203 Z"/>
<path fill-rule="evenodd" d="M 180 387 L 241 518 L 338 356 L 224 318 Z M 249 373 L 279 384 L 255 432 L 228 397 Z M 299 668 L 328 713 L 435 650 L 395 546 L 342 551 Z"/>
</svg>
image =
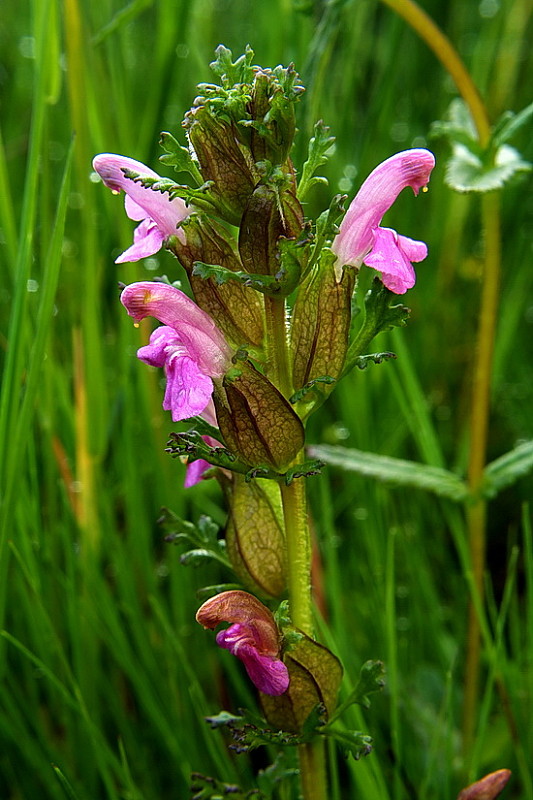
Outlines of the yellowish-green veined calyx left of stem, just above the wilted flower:
<svg viewBox="0 0 533 800">
<path fill-rule="evenodd" d="M 252 591 L 279 597 L 287 552 L 279 486 L 235 474 L 226 545 L 233 569 Z"/>
</svg>

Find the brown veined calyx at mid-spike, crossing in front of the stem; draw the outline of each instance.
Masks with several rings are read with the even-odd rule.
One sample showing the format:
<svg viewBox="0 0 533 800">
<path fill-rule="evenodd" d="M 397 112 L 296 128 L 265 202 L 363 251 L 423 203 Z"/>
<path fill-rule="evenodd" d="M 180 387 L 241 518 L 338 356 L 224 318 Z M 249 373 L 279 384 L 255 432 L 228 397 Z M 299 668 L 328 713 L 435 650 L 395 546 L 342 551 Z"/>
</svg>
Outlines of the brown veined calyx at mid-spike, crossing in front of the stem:
<svg viewBox="0 0 533 800">
<path fill-rule="evenodd" d="M 249 362 L 215 382 L 213 400 L 226 446 L 250 466 L 283 472 L 302 449 L 300 418 Z"/>
</svg>

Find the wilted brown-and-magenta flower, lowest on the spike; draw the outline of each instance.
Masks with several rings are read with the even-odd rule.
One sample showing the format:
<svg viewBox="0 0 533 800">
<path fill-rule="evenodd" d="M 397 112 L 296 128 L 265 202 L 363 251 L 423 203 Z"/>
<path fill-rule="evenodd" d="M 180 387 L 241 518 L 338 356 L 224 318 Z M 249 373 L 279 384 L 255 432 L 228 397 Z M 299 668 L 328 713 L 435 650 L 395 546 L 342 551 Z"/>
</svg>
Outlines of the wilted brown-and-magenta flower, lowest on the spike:
<svg viewBox="0 0 533 800">
<path fill-rule="evenodd" d="M 278 629 L 272 613 L 256 597 L 238 590 L 222 592 L 198 609 L 196 620 L 211 630 L 220 622 L 232 623 L 217 633 L 217 644 L 243 662 L 260 692 L 277 696 L 287 691 L 289 673 L 279 658 Z"/>
</svg>

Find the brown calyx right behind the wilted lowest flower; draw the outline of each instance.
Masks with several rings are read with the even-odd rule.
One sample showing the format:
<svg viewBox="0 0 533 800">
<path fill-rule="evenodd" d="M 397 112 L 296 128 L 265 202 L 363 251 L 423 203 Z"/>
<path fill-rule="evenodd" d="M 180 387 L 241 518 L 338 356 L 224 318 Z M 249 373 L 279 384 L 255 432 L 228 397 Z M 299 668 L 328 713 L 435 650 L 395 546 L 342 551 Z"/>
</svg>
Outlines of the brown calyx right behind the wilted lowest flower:
<svg viewBox="0 0 533 800">
<path fill-rule="evenodd" d="M 321 703 L 326 715 L 335 709 L 342 679 L 340 661 L 326 647 L 305 634 L 283 656 L 290 682 L 281 697 L 261 697 L 268 722 L 275 728 L 299 733 L 313 710 Z"/>
</svg>

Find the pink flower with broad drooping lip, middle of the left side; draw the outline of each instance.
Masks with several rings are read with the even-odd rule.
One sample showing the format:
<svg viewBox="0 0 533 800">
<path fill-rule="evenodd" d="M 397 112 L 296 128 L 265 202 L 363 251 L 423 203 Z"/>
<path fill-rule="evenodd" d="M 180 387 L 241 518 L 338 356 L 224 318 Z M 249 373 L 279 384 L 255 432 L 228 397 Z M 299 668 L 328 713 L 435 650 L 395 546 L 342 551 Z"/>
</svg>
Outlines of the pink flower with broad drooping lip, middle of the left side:
<svg viewBox="0 0 533 800">
<path fill-rule="evenodd" d="M 221 331 L 187 295 L 165 283 L 132 283 L 120 299 L 135 320 L 152 316 L 163 323 L 137 352 L 141 361 L 165 369 L 163 408 L 174 422 L 202 414 L 211 400 L 212 378 L 231 367 Z"/>
</svg>

